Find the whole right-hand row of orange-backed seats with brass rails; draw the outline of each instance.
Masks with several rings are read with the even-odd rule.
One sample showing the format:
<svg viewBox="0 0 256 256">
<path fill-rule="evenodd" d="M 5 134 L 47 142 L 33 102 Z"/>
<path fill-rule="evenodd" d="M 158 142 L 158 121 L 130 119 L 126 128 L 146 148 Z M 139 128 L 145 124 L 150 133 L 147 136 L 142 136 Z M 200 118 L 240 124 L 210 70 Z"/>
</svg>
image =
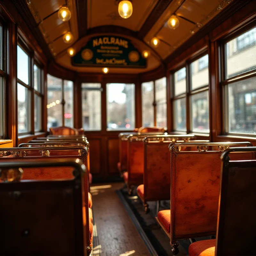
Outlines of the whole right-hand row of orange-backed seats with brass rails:
<svg viewBox="0 0 256 256">
<path fill-rule="evenodd" d="M 168 135 L 157 134 L 157 132 L 155 134 L 123 133 L 119 135 L 120 163 L 118 166 L 122 167 L 120 172 L 129 193 L 132 193 L 133 186 L 138 186 L 137 194 L 143 202 L 146 213 L 149 211 L 149 201 L 156 201 L 159 207 L 161 200 L 170 200 L 171 209 L 159 212 L 158 208 L 156 220 L 170 238 L 173 254 L 179 252 L 178 240 L 190 239 L 190 242 L 193 242 L 196 237 L 215 236 L 216 231 L 218 233 L 218 230 L 220 230 L 220 225 L 223 229 L 228 223 L 225 220 L 227 212 L 223 213 L 224 217 L 220 222 L 220 213 L 226 211 L 224 208 L 221 209 L 219 207 L 221 195 L 226 202 L 223 205 L 226 207 L 229 205 L 227 204 L 228 200 L 230 204 L 232 200 L 237 200 L 237 196 L 234 196 L 235 193 L 238 195 L 240 191 L 243 193 L 242 195 L 245 195 L 255 188 L 252 184 L 248 189 L 245 186 L 250 179 L 255 183 L 256 148 L 253 148 L 251 143 L 211 143 L 194 139 L 195 136 L 193 134 Z M 241 168 L 236 169 L 235 165 L 231 164 L 237 164 L 237 166 L 240 164 Z M 232 170 L 227 169 L 230 166 L 233 166 Z M 251 169 L 250 166 L 252 167 Z M 243 182 L 245 183 L 243 187 L 233 187 L 233 190 L 231 190 L 233 195 L 232 193 L 227 195 L 225 194 L 226 192 L 221 191 L 221 187 L 229 189 L 228 186 L 230 185 L 227 180 L 223 179 L 224 170 L 228 170 L 227 173 L 240 173 L 240 171 L 243 173 L 243 168 L 245 167 L 248 167 L 248 172 L 244 173 L 251 172 L 248 174 L 249 176 L 244 177 L 245 180 Z M 239 182 L 241 179 L 239 177 L 240 174 L 235 176 L 236 180 L 234 182 Z M 232 199 L 230 199 L 231 197 Z M 255 202 L 255 191 L 252 197 L 240 197 L 238 201 L 242 203 L 245 201 L 244 198 L 248 199 L 246 205 L 243 204 L 244 209 L 249 211 L 252 202 Z M 232 207 L 227 211 L 229 211 L 229 218 L 236 213 L 235 208 Z M 243 216 L 245 216 L 241 211 L 239 211 L 239 214 L 239 216 L 235 214 L 236 220 L 239 218 L 242 220 Z M 235 217 L 232 219 L 232 225 L 235 225 L 234 219 Z M 219 226 L 217 225 L 217 220 L 219 220 Z M 253 228 L 256 228 L 256 223 L 252 218 L 250 218 L 250 223 Z M 235 225 L 234 227 L 238 226 Z M 225 232 L 226 228 L 222 231 Z M 250 229 L 249 226 L 244 227 L 242 225 L 240 230 L 244 232 L 244 228 L 246 230 Z M 235 232 L 234 228 L 232 230 Z M 227 232 L 230 236 L 231 230 Z M 238 234 L 238 230 L 236 230 L 235 234 Z M 248 239 L 248 242 L 254 237 L 254 235 L 250 236 L 249 234 L 244 238 Z M 217 242 L 212 239 L 192 243 L 189 248 L 189 255 L 215 255 L 215 243 L 218 244 L 220 240 L 225 240 L 220 238 L 222 235 L 217 236 Z M 246 252 L 245 249 L 243 252 L 240 251 L 242 254 L 236 254 L 230 249 L 230 244 L 225 241 L 223 243 L 227 246 L 219 245 L 216 249 L 216 255 L 256 255 L 244 254 Z M 252 246 L 249 247 L 248 252 L 251 253 L 253 250 L 254 253 L 256 252 Z"/>
</svg>

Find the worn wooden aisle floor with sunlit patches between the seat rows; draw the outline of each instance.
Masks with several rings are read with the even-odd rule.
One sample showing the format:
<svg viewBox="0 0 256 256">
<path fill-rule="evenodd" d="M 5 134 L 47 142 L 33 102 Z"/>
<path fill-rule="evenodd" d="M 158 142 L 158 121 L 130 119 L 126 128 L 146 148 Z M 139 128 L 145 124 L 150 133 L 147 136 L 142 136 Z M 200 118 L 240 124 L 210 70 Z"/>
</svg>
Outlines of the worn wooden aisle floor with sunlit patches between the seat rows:
<svg viewBox="0 0 256 256">
<path fill-rule="evenodd" d="M 91 187 L 93 202 L 93 256 L 150 255 L 119 197 L 116 189 L 124 183 L 95 184 Z"/>
</svg>

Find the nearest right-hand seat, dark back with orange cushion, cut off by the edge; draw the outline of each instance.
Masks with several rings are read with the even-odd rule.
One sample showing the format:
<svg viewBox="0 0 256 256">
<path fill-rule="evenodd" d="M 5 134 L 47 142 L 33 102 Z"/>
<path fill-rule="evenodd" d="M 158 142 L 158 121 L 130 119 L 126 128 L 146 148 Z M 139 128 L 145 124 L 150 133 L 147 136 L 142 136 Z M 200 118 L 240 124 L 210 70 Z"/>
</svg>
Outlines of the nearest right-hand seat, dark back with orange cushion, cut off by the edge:
<svg viewBox="0 0 256 256">
<path fill-rule="evenodd" d="M 189 256 L 256 255 L 256 160 L 247 154 L 246 161 L 230 161 L 241 152 L 255 154 L 256 147 L 229 148 L 221 155 L 216 241 L 191 244 Z"/>
</svg>

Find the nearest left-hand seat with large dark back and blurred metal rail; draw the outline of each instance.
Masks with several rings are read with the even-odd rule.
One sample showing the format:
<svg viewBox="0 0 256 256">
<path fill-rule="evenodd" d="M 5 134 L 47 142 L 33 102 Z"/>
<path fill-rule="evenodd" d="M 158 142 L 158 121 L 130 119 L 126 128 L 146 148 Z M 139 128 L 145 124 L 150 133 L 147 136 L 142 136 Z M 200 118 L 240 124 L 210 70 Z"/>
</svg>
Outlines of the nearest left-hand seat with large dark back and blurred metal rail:
<svg viewBox="0 0 256 256">
<path fill-rule="evenodd" d="M 3 158 L 1 158 L 2 160 Z M 84 196 L 86 167 L 81 160 L 0 162 L 1 255 L 89 255 L 92 216 Z M 35 169 L 71 169 L 71 177 L 20 180 Z M 51 171 L 54 172 L 54 171 Z M 73 174 L 73 175 L 72 175 Z M 7 178 L 8 177 L 8 178 Z M 15 180 L 15 182 L 12 182 Z M 91 230 L 91 232 L 89 232 Z"/>
</svg>

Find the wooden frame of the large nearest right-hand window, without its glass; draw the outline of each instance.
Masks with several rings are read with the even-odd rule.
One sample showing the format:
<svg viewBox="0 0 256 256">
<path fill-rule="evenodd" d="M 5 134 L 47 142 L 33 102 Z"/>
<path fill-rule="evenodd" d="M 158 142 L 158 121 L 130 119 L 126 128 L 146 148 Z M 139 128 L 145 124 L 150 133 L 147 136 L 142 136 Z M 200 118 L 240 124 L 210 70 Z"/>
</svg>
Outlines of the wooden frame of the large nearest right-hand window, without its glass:
<svg viewBox="0 0 256 256">
<path fill-rule="evenodd" d="M 256 68 L 254 70 L 246 71 L 242 74 L 238 74 L 229 78 L 226 78 L 226 68 L 227 68 L 227 50 L 225 45 L 246 33 L 247 31 L 256 27 L 255 22 L 250 22 L 246 26 L 238 28 L 234 33 L 229 34 L 228 36 L 220 39 L 219 41 L 219 76 L 220 76 L 220 88 L 222 96 L 222 135 L 224 136 L 235 136 L 235 137 L 255 137 L 255 134 L 252 133 L 238 133 L 238 132 L 228 132 L 228 85 L 235 82 L 247 80 L 252 77 L 256 77 Z M 241 51 L 241 49 L 239 50 Z M 221 61 L 223 60 L 223 61 Z"/>
</svg>

